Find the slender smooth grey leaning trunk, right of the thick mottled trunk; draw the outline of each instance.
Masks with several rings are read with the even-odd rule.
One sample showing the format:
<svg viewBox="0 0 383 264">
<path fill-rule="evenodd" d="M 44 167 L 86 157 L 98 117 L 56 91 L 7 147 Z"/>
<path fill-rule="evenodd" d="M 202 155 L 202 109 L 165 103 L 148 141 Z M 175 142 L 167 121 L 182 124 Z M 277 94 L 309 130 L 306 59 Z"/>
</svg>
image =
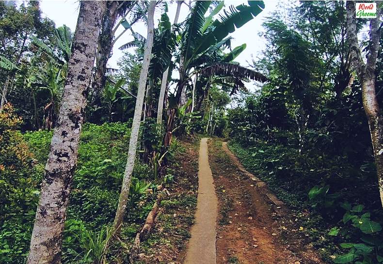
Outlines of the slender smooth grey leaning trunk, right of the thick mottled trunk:
<svg viewBox="0 0 383 264">
<path fill-rule="evenodd" d="M 150 56 L 152 53 L 152 46 L 153 46 L 153 31 L 154 31 L 153 20 L 154 20 L 155 7 L 156 7 L 156 1 L 150 1 L 148 16 L 147 16 L 148 18 L 147 19 L 147 38 L 146 38 L 146 45 L 144 50 L 144 61 L 143 61 L 143 66 L 140 73 L 136 108 L 134 109 L 132 129 L 130 133 L 128 160 L 127 160 L 127 165 L 125 167 L 124 179 L 122 181 L 120 200 L 118 202 L 116 216 L 114 218 L 114 223 L 113 223 L 113 228 L 116 233 L 118 233 L 121 229 L 121 224 L 124 219 L 125 211 L 127 208 L 129 187 L 130 187 L 130 182 L 132 178 L 134 161 L 136 159 L 138 132 L 140 130 L 140 121 L 141 121 L 142 110 L 143 110 L 146 79 L 147 79 L 147 74 L 149 69 Z"/>
</svg>

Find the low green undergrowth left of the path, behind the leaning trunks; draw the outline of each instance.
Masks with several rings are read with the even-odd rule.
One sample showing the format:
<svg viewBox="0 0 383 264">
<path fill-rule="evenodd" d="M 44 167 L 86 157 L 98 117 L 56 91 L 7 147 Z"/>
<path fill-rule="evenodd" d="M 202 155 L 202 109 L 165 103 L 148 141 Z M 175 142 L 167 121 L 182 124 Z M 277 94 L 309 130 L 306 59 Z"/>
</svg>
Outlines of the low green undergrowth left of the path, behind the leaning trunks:
<svg viewBox="0 0 383 264">
<path fill-rule="evenodd" d="M 6 154 L 1 155 L 0 159 L 0 197 L 3 205 L 0 260 L 1 263 L 24 263 L 52 132 L 42 130 L 20 134 L 15 129 L 21 120 L 9 105 L 0 118 L 3 132 L 1 151 Z M 113 221 L 124 175 L 129 127 L 129 123 L 84 124 L 79 162 L 67 211 L 64 263 L 88 263 L 95 256 L 81 259 L 87 247 L 91 247 L 84 243 L 91 243 L 89 237 L 93 237 L 92 243 L 96 243 L 97 239 L 102 243 L 103 239 L 99 236 L 105 239 L 108 235 L 106 228 Z M 170 149 L 168 159 L 176 151 L 180 151 L 179 146 Z M 167 183 L 172 179 L 172 175 L 167 174 Z M 152 168 L 137 161 L 129 193 L 129 210 L 125 217 L 128 224 L 122 231 L 127 238 L 135 235 L 153 205 L 155 196 L 145 193 L 145 190 L 157 184 Z"/>
</svg>

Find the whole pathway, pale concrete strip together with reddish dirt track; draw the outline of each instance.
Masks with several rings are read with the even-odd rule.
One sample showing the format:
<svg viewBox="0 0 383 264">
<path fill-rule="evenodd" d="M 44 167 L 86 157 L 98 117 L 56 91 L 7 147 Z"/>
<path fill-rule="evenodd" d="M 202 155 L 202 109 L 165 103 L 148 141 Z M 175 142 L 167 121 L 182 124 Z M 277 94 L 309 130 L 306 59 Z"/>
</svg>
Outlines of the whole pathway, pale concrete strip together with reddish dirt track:
<svg viewBox="0 0 383 264">
<path fill-rule="evenodd" d="M 225 144 L 202 139 L 197 212 L 184 264 L 321 264 L 294 219 Z"/>
</svg>

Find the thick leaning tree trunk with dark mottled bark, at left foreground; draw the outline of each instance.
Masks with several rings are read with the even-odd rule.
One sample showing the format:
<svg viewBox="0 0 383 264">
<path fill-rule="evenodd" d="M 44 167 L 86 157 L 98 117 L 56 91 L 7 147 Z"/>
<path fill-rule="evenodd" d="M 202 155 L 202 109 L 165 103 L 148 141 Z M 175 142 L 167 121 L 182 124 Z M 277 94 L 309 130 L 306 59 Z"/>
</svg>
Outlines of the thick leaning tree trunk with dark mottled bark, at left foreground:
<svg viewBox="0 0 383 264">
<path fill-rule="evenodd" d="M 105 7 L 105 1 L 81 1 L 80 4 L 62 105 L 50 144 L 27 264 L 61 263 L 65 211 L 77 165 L 86 93 Z"/>
</svg>

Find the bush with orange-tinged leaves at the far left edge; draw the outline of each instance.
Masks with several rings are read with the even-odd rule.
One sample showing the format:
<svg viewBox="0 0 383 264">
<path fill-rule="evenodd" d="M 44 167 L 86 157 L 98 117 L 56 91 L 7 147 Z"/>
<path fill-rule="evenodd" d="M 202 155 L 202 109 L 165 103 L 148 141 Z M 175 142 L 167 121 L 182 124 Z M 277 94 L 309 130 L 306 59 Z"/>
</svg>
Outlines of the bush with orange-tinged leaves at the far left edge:
<svg viewBox="0 0 383 264">
<path fill-rule="evenodd" d="M 33 155 L 10 104 L 0 112 L 0 262 L 24 263 L 38 203 Z"/>
</svg>

